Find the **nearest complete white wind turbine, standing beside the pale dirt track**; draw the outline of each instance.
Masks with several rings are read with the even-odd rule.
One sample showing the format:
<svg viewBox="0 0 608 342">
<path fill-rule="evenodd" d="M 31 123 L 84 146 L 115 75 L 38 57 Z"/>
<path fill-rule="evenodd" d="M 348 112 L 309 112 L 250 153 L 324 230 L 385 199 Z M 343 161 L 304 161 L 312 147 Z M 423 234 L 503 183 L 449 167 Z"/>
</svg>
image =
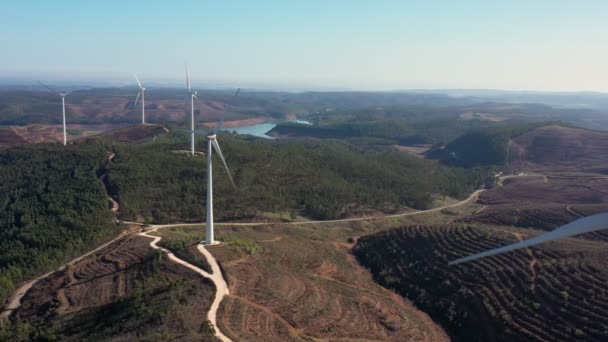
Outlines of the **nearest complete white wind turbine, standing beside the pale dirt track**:
<svg viewBox="0 0 608 342">
<path fill-rule="evenodd" d="M 241 88 L 239 88 L 234 96 L 238 96 Z M 234 184 L 234 180 L 232 179 L 232 175 L 230 174 L 230 170 L 228 169 L 228 164 L 226 164 L 226 159 L 224 159 L 224 155 L 222 154 L 222 150 L 220 149 L 220 145 L 217 142 L 217 132 L 222 129 L 224 124 L 224 120 L 221 119 L 213 128 L 211 132 L 207 134 L 207 222 L 205 225 L 205 244 L 213 245 L 215 244 L 214 240 L 214 229 L 213 229 L 213 158 L 212 153 L 213 150 L 217 153 L 224 164 L 224 168 L 226 169 L 226 173 L 228 174 L 228 178 L 230 178 L 230 183 L 234 189 L 236 189 L 236 185 Z"/>
</svg>

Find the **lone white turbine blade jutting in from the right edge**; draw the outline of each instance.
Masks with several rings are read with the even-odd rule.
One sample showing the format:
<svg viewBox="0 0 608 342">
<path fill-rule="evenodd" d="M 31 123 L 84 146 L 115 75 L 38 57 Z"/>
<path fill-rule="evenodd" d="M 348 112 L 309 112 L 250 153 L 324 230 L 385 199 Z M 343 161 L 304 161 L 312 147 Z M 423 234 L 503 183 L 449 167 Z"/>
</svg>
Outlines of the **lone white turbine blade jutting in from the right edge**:
<svg viewBox="0 0 608 342">
<path fill-rule="evenodd" d="M 464 258 L 456 259 L 448 263 L 448 265 L 457 265 L 463 262 L 473 261 L 480 258 L 485 258 L 491 255 L 501 254 L 509 251 L 514 251 L 520 248 L 526 248 L 538 245 L 543 242 L 553 241 L 566 237 L 575 236 L 583 233 L 590 233 L 597 230 L 608 228 L 608 213 L 595 214 L 592 216 L 583 217 L 576 221 L 572 221 L 564 226 L 561 226 L 549 233 L 545 233 L 528 240 L 516 242 L 503 247 L 491 249 L 478 254 L 470 255 Z"/>
</svg>

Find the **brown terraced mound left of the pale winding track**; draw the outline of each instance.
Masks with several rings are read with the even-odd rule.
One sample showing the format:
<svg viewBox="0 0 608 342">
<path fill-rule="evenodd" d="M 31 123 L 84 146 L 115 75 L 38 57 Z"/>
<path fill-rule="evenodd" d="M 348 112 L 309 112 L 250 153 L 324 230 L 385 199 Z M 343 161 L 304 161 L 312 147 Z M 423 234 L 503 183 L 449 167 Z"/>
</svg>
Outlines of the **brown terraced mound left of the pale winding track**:
<svg viewBox="0 0 608 342">
<path fill-rule="evenodd" d="M 128 236 L 36 283 L 15 313 L 41 332 L 28 337 L 215 341 L 205 321 L 213 285 L 148 244 Z"/>
</svg>

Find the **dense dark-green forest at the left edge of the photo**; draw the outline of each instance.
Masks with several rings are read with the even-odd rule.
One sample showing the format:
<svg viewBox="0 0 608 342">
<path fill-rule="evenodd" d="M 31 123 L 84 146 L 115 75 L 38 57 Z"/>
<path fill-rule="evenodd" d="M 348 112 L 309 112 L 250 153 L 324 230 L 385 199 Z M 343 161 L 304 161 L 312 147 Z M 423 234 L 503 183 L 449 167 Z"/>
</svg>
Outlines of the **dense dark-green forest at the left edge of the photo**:
<svg viewBox="0 0 608 342">
<path fill-rule="evenodd" d="M 95 142 L 0 153 L 0 301 L 117 231 L 97 179 L 105 159 Z"/>
</svg>

